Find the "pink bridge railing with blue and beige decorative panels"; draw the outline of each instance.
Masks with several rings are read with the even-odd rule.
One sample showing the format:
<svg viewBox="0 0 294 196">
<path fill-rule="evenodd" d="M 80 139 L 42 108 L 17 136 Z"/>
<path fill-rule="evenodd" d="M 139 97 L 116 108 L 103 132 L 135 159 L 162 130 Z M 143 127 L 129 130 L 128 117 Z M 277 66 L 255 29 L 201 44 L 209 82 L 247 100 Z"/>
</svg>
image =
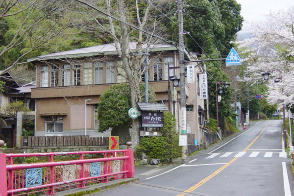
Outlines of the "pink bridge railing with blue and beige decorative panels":
<svg viewBox="0 0 294 196">
<path fill-rule="evenodd" d="M 96 154 L 101 158 L 84 159 L 85 154 Z M 54 161 L 55 156 L 64 155 L 78 155 L 79 158 Z M 40 156 L 47 157 L 49 162 L 13 164 L 13 158 Z M 69 186 L 85 188 L 93 183 L 134 177 L 134 172 L 132 149 L 27 154 L 0 152 L 0 196 L 20 196 L 44 191 L 47 195 L 54 195 L 55 190 L 65 190 Z M 3 179 L 7 179 L 7 184 Z"/>
</svg>

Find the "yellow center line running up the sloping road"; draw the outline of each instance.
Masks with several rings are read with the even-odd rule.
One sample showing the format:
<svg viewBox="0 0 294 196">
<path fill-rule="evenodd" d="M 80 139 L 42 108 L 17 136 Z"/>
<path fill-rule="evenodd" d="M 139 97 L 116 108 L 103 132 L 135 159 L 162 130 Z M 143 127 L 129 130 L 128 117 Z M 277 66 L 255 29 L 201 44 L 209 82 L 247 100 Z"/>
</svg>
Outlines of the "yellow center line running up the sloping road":
<svg viewBox="0 0 294 196">
<path fill-rule="evenodd" d="M 254 142 L 261 136 L 261 134 L 266 130 L 266 128 L 269 126 L 270 123 L 271 123 L 271 121 L 258 134 L 258 136 L 256 136 L 256 138 L 247 147 L 245 147 L 245 149 L 243 150 L 243 152 L 245 152 L 249 147 L 251 147 L 254 144 Z M 190 193 L 190 192 L 194 191 L 195 189 L 197 189 L 198 187 L 200 187 L 201 185 L 203 185 L 205 182 L 207 182 L 208 180 L 210 180 L 211 178 L 213 178 L 214 176 L 216 176 L 217 174 L 219 174 L 226 167 L 228 167 L 229 165 L 231 165 L 232 163 L 234 163 L 238 158 L 240 158 L 240 157 L 233 158 L 230 162 L 228 162 L 227 164 L 225 164 L 224 166 L 222 166 L 220 169 L 218 169 L 217 171 L 213 172 L 212 174 L 210 174 L 209 176 L 207 176 L 206 178 L 204 178 L 203 180 L 201 180 L 200 182 L 198 182 L 196 185 L 190 187 L 188 190 L 186 190 L 183 193 L 181 193 L 179 195 L 176 195 L 176 196 L 184 196 L 187 193 Z"/>
</svg>

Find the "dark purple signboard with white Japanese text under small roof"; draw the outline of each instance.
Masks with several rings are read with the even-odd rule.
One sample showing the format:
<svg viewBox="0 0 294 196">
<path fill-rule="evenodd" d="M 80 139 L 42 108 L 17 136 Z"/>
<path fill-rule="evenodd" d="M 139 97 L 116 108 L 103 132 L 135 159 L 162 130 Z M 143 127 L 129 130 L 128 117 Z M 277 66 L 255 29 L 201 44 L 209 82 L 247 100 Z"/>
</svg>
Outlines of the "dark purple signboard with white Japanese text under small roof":
<svg viewBox="0 0 294 196">
<path fill-rule="evenodd" d="M 142 127 L 163 127 L 163 112 L 141 112 Z"/>
</svg>

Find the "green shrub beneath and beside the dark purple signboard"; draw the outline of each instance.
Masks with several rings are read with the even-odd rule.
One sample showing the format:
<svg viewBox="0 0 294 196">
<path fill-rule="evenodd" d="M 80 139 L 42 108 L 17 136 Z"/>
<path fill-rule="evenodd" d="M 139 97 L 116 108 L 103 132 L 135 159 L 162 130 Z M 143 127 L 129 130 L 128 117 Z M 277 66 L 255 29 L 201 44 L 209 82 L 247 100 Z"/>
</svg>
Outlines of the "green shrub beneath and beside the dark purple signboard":
<svg viewBox="0 0 294 196">
<path fill-rule="evenodd" d="M 144 137 L 141 145 L 136 148 L 137 156 L 145 152 L 148 157 L 167 162 L 181 155 L 178 135 L 175 130 L 175 118 L 171 112 L 164 112 L 163 123 L 163 135 L 161 137 Z"/>
</svg>

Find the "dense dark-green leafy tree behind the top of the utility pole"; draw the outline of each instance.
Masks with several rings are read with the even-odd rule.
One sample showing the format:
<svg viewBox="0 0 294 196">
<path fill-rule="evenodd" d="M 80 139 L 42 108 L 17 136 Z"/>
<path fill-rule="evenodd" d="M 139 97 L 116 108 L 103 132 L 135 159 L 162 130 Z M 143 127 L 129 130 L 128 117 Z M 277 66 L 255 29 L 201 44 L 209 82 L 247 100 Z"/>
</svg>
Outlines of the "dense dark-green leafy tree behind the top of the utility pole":
<svg viewBox="0 0 294 196">
<path fill-rule="evenodd" d="M 175 3 L 172 4 L 171 10 L 176 12 L 176 9 Z M 191 37 L 185 37 L 187 47 L 200 54 L 208 54 L 208 58 L 227 55 L 233 47 L 230 41 L 235 40 L 242 27 L 241 5 L 236 0 L 186 0 L 184 10 L 184 29 L 191 34 Z M 176 20 L 176 17 L 172 19 Z M 171 26 L 172 39 L 178 40 L 178 27 L 172 23 Z"/>
</svg>

